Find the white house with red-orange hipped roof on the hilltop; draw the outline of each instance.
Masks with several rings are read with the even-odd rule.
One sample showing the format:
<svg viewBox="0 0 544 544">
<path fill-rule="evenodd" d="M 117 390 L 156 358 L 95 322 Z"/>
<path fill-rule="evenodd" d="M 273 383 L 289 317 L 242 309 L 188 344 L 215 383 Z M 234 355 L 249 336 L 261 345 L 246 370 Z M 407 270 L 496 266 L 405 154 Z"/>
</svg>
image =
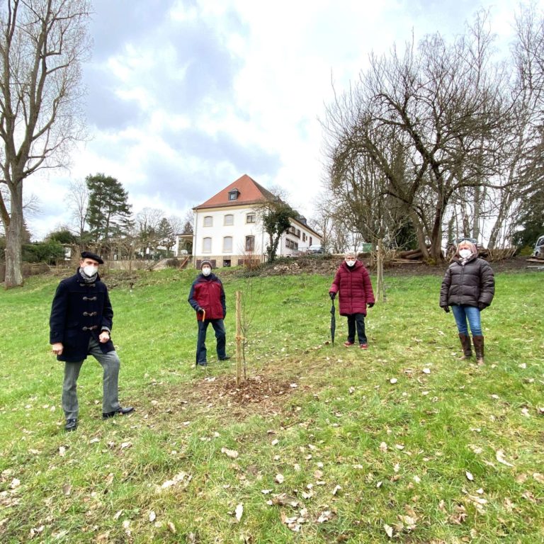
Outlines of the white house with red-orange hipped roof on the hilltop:
<svg viewBox="0 0 544 544">
<path fill-rule="evenodd" d="M 244 174 L 193 208 L 195 266 L 199 268 L 203 259 L 212 261 L 214 267 L 264 261 L 268 234 L 263 229 L 260 211 L 267 200 L 276 197 Z M 290 223 L 288 232 L 281 236 L 277 256 L 293 256 L 321 244 L 321 235 L 306 224 L 305 217 L 292 217 Z"/>
</svg>

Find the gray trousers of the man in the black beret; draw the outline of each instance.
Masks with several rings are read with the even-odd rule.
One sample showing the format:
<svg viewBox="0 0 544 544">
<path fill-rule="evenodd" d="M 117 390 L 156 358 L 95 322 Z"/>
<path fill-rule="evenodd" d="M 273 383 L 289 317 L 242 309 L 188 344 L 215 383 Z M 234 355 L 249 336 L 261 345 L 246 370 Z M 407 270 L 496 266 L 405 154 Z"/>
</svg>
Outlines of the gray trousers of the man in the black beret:
<svg viewBox="0 0 544 544">
<path fill-rule="evenodd" d="M 120 408 L 118 398 L 119 357 L 114 351 L 102 353 L 98 342 L 89 340 L 89 355 L 92 355 L 103 368 L 102 412 L 115 412 Z M 64 363 L 64 382 L 62 383 L 62 409 L 66 419 L 77 419 L 79 403 L 77 402 L 77 378 L 84 361 Z"/>
</svg>

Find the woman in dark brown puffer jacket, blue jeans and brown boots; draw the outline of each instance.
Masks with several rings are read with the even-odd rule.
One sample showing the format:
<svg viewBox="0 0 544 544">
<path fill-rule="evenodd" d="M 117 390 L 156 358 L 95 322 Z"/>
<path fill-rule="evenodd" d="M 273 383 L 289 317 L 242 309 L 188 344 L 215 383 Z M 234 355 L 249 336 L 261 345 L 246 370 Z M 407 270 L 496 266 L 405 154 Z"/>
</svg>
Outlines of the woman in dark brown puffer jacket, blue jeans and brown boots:
<svg viewBox="0 0 544 544">
<path fill-rule="evenodd" d="M 478 258 L 476 246 L 468 240 L 460 242 L 451 261 L 442 280 L 440 307 L 449 312 L 451 306 L 463 346 L 461 359 L 472 357 L 468 319 L 477 363 L 483 365 L 484 336 L 480 312 L 493 300 L 495 293 L 493 270 L 487 261 Z"/>
</svg>

